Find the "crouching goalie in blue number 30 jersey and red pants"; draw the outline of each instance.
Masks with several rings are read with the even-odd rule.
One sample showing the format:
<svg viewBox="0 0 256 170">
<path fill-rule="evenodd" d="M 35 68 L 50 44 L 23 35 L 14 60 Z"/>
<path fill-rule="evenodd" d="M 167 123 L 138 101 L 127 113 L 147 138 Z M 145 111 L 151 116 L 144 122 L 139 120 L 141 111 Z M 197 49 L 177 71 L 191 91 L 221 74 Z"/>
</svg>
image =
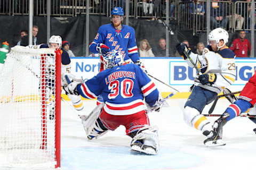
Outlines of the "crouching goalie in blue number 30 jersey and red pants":
<svg viewBox="0 0 256 170">
<path fill-rule="evenodd" d="M 158 133 L 152 128 L 146 113 L 146 105 L 159 112 L 162 106 L 159 92 L 153 81 L 136 64 L 124 64 L 120 52 L 113 50 L 103 58 L 106 70 L 86 82 L 66 82 L 65 90 L 70 94 L 88 99 L 102 95 L 105 105 L 87 129 L 87 138 L 93 139 L 124 125 L 126 134 L 132 139 L 131 149 L 146 154 L 156 154 Z M 74 76 L 66 74 L 68 79 Z"/>
</svg>

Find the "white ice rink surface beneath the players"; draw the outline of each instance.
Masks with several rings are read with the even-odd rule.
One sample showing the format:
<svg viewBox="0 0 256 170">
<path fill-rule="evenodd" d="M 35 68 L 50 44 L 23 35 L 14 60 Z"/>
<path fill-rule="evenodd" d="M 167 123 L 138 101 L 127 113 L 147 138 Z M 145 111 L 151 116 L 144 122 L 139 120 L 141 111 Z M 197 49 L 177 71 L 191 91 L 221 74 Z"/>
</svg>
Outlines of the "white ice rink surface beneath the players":
<svg viewBox="0 0 256 170">
<path fill-rule="evenodd" d="M 168 99 L 169 107 L 149 113 L 152 126 L 158 126 L 158 154 L 143 155 L 130 151 L 131 138 L 120 126 L 96 140 L 88 141 L 80 118 L 62 101 L 61 169 L 255 169 L 256 124 L 247 117 L 236 117 L 223 128 L 226 146 L 206 147 L 201 131 L 183 121 L 182 106 L 186 99 Z M 84 100 L 87 114 L 95 100 Z M 203 113 L 209 111 L 211 104 Z M 222 114 L 229 103 L 220 99 L 213 114 Z M 213 123 L 218 117 L 207 117 Z"/>
</svg>

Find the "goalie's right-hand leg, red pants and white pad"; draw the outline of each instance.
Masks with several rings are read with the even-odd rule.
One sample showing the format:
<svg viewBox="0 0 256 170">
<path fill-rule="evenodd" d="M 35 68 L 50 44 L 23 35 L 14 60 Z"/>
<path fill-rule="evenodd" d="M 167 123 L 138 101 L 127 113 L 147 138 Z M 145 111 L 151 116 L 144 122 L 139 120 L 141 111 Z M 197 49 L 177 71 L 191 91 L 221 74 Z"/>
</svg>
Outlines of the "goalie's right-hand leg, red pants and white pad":
<svg viewBox="0 0 256 170">
<path fill-rule="evenodd" d="M 159 148 L 158 129 L 151 127 L 145 111 L 127 115 L 126 134 L 132 138 L 131 150 L 155 155 Z"/>
</svg>

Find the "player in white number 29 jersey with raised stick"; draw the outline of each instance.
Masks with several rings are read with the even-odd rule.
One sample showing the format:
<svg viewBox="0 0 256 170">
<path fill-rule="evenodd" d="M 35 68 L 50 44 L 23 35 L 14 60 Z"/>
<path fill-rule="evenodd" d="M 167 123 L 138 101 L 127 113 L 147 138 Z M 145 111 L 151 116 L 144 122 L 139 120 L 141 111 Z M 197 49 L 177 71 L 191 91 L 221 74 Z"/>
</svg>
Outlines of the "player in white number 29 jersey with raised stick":
<svg viewBox="0 0 256 170">
<path fill-rule="evenodd" d="M 222 87 L 231 85 L 236 78 L 235 54 L 226 44 L 228 32 L 216 28 L 209 33 L 209 45 L 203 50 L 203 55 L 194 54 L 185 44 L 177 45 L 177 50 L 190 67 L 194 65 L 187 54 L 201 70 L 201 75 L 195 79 L 194 88 L 183 111 L 185 122 L 203 132 L 207 136 L 206 146 L 225 145 L 221 137 L 212 129 L 209 120 L 201 113 L 205 105 L 210 104 L 222 91 Z M 212 140 L 214 139 L 214 141 Z"/>
</svg>

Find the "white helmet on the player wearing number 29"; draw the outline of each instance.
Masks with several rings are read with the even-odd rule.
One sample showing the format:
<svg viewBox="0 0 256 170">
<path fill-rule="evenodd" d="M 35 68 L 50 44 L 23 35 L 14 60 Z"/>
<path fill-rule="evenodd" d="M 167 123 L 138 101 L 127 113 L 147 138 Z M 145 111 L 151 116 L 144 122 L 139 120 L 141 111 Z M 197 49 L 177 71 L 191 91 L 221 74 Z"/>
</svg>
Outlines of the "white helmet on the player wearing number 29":
<svg viewBox="0 0 256 170">
<path fill-rule="evenodd" d="M 212 30 L 210 33 L 209 33 L 209 36 L 208 36 L 208 40 L 209 40 L 209 44 L 210 44 L 210 41 L 216 41 L 217 43 L 217 47 L 218 48 L 221 48 L 218 46 L 220 40 L 223 40 L 224 41 L 224 44 L 227 44 L 228 43 L 228 32 L 223 29 L 223 28 L 216 28 L 214 30 Z M 223 46 L 222 46 L 223 47 Z"/>
</svg>

